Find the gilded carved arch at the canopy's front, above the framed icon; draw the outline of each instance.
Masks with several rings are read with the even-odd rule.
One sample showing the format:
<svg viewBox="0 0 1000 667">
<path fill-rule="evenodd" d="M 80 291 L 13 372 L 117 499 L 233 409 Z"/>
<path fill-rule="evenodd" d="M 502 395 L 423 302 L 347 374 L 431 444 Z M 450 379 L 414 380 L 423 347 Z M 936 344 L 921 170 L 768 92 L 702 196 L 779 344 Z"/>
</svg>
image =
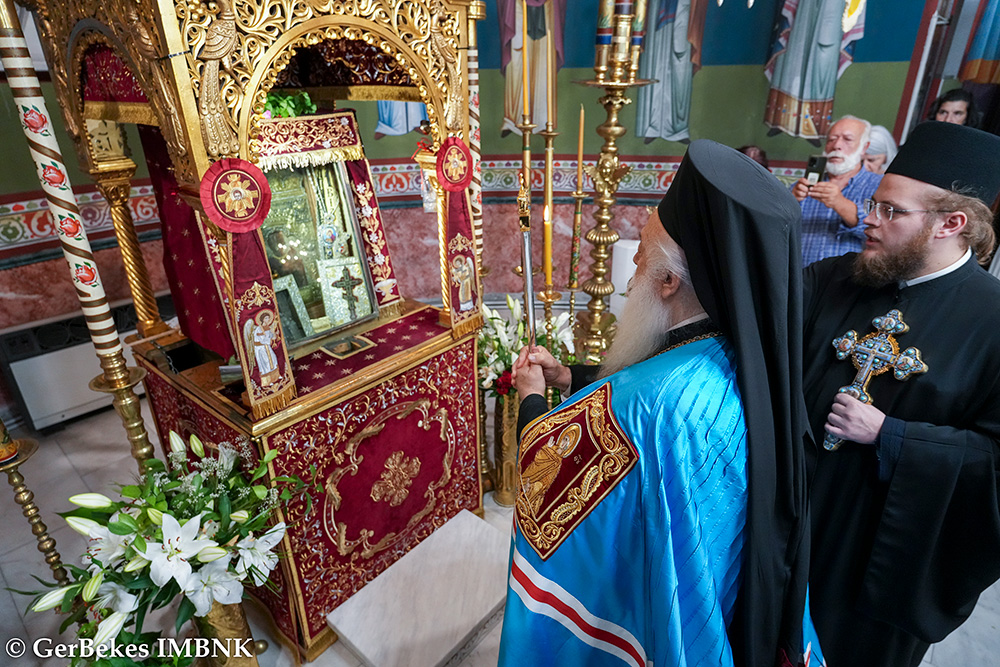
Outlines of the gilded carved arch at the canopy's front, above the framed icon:
<svg viewBox="0 0 1000 667">
<path fill-rule="evenodd" d="M 419 91 L 421 101 L 427 106 L 430 137 L 436 150 L 448 136 L 444 119 L 447 86 L 450 84 L 445 83 L 442 90 L 431 77 L 423 58 L 383 26 L 352 16 L 323 16 L 305 21 L 283 34 L 266 51 L 262 59 L 264 65 L 255 69 L 247 83 L 239 111 L 240 155 L 249 160 L 256 159 L 257 149 L 251 138 L 255 141 L 259 134 L 267 93 L 274 87 L 278 74 L 288 65 L 296 49 L 313 46 L 326 39 L 363 41 L 389 54 L 405 69 Z"/>
</svg>

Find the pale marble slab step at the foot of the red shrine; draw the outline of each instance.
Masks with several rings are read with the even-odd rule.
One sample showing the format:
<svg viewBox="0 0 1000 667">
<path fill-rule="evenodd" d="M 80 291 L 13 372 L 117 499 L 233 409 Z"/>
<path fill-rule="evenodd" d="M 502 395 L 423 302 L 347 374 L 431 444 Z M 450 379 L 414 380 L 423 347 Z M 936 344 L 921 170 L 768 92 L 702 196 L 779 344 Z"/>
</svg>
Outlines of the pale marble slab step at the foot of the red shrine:
<svg viewBox="0 0 1000 667">
<path fill-rule="evenodd" d="M 327 623 L 368 667 L 461 659 L 502 615 L 508 542 L 463 510 L 337 607 Z"/>
</svg>

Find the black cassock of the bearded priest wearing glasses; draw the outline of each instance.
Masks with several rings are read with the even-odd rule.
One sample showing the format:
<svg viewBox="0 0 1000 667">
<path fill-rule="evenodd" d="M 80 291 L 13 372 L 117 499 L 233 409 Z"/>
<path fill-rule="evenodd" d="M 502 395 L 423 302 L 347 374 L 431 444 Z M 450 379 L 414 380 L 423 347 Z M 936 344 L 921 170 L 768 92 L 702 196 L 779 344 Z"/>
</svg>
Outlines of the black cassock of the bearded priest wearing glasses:
<svg viewBox="0 0 1000 667">
<path fill-rule="evenodd" d="M 915 667 L 1000 577 L 1000 281 L 970 254 L 926 282 L 862 287 L 854 257 L 805 271 L 803 388 L 816 442 L 856 373 L 836 359 L 835 338 L 860 339 L 899 310 L 910 327 L 895 335 L 900 349 L 919 349 L 928 370 L 871 381 L 887 415 L 877 446 L 817 447 L 810 606 L 830 665 Z"/>
</svg>

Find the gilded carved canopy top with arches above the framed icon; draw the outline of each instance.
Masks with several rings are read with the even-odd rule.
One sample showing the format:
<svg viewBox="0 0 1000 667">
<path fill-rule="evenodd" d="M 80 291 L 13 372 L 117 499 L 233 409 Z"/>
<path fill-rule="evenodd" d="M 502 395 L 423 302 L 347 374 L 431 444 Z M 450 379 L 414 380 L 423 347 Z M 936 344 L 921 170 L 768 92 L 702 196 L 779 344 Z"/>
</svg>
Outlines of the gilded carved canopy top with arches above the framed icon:
<svg viewBox="0 0 1000 667">
<path fill-rule="evenodd" d="M 483 14 L 477 0 L 175 0 L 170 7 L 150 0 L 35 7 L 85 163 L 85 118 L 156 124 L 181 187 L 194 190 L 215 159 L 256 159 L 264 103 L 276 86 L 423 101 L 435 149 L 468 131 L 465 48 L 470 19 Z M 95 99 L 93 91 L 114 89 L 113 80 L 131 82 L 133 94 Z"/>
</svg>

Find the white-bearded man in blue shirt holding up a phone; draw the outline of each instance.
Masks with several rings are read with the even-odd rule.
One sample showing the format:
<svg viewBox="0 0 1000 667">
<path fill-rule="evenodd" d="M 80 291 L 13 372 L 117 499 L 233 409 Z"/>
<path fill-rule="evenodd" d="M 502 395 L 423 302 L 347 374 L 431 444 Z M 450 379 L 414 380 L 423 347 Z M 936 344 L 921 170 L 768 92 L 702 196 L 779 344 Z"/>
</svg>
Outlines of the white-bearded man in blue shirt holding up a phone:
<svg viewBox="0 0 1000 667">
<path fill-rule="evenodd" d="M 792 194 L 802 206 L 802 265 L 858 252 L 865 244 L 864 203 L 882 180 L 865 167 L 871 123 L 844 116 L 826 137 L 826 178 L 800 178 Z"/>
</svg>

